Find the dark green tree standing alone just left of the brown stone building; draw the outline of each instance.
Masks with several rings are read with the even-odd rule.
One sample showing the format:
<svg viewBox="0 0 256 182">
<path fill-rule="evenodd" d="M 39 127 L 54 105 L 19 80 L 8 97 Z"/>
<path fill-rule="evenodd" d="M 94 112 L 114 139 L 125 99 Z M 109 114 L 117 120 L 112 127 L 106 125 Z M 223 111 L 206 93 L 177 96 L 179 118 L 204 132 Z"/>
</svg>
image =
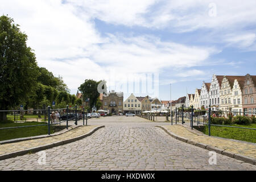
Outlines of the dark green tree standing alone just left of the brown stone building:
<svg viewBox="0 0 256 182">
<path fill-rule="evenodd" d="M 90 99 L 90 108 L 95 106 L 97 107 L 98 97 L 100 97 L 100 93 L 98 93 L 97 87 L 101 81 L 94 80 L 85 80 L 83 84 L 80 85 L 79 91 L 82 93 L 84 101 L 86 98 Z"/>
</svg>

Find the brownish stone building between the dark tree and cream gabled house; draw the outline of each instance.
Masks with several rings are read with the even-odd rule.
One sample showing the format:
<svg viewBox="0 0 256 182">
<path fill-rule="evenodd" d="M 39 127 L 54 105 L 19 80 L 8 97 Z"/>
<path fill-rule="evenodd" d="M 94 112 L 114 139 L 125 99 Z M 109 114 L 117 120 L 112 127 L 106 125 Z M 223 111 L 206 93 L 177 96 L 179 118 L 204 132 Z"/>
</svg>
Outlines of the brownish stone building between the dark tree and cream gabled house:
<svg viewBox="0 0 256 182">
<path fill-rule="evenodd" d="M 102 95 L 102 109 L 111 114 L 123 112 L 123 92 L 109 91 Z"/>
</svg>

